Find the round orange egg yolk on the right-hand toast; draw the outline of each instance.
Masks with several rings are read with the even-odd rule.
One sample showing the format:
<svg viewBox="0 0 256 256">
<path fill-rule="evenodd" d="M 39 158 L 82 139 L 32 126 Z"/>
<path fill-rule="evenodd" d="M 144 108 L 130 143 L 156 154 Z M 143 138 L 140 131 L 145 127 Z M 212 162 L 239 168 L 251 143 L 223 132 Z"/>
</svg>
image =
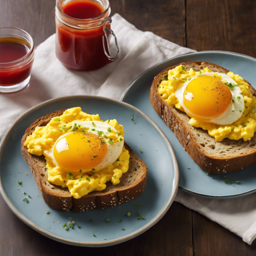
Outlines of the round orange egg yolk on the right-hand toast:
<svg viewBox="0 0 256 256">
<path fill-rule="evenodd" d="M 198 121 L 204 121 L 204 117 L 221 116 L 231 100 L 229 87 L 213 76 L 200 76 L 191 80 L 183 94 L 184 105 L 189 110 L 187 114 Z"/>
</svg>

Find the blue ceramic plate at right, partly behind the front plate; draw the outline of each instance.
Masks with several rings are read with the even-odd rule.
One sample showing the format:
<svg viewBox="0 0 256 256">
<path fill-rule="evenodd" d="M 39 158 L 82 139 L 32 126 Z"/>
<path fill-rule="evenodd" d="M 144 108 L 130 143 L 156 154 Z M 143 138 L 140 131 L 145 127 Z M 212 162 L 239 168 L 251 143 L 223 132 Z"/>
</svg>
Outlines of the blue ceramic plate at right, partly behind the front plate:
<svg viewBox="0 0 256 256">
<path fill-rule="evenodd" d="M 179 189 L 206 198 L 234 198 L 256 192 L 256 165 L 243 170 L 220 175 L 207 175 L 184 151 L 171 129 L 163 122 L 151 106 L 149 95 L 154 77 L 168 67 L 189 61 L 209 61 L 227 68 L 256 87 L 256 59 L 234 52 L 205 51 L 179 55 L 163 61 L 135 79 L 122 95 L 121 100 L 143 111 L 166 134 L 174 148 L 179 171 Z M 190 168 L 190 169 L 188 169 Z M 225 178 L 224 176 L 227 176 Z M 229 183 L 225 183 L 229 180 Z M 239 181 L 239 183 L 236 183 Z"/>
</svg>

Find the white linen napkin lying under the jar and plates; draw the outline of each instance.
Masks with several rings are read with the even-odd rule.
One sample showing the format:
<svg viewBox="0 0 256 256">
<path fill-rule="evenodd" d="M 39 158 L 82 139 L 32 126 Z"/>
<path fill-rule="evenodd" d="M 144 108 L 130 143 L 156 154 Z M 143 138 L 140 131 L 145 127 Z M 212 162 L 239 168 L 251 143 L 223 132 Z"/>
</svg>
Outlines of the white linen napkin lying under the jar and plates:
<svg viewBox="0 0 256 256">
<path fill-rule="evenodd" d="M 29 86 L 15 93 L 0 93 L 0 140 L 18 116 L 38 103 L 79 94 L 120 99 L 128 85 L 148 68 L 176 55 L 194 52 L 151 32 L 142 32 L 118 14 L 112 20 L 121 54 L 99 70 L 79 72 L 64 67 L 55 56 L 55 35 L 37 47 Z M 216 221 L 248 244 L 256 238 L 256 194 L 217 200 L 178 191 L 175 201 Z"/>
</svg>

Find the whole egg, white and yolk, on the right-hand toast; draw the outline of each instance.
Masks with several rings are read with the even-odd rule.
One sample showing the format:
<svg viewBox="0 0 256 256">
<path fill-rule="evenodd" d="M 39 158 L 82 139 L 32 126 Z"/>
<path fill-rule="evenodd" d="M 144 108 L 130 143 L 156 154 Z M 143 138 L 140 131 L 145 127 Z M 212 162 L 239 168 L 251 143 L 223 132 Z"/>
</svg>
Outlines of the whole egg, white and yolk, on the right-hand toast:
<svg viewBox="0 0 256 256">
<path fill-rule="evenodd" d="M 224 73 L 205 72 L 186 79 L 175 96 L 187 115 L 199 122 L 229 125 L 244 111 L 240 87 Z"/>
</svg>

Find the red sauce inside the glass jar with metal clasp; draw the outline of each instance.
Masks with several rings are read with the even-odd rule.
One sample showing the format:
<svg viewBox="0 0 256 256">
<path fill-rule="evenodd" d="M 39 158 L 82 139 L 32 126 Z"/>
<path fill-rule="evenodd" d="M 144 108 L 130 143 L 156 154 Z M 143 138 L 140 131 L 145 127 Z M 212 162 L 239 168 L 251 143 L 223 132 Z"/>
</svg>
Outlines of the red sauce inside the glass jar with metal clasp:
<svg viewBox="0 0 256 256">
<path fill-rule="evenodd" d="M 61 11 L 71 18 L 84 19 L 86 23 L 86 19 L 98 17 L 104 9 L 92 0 L 74 0 L 61 6 Z M 109 23 L 107 27 L 110 28 Z M 111 62 L 104 53 L 103 35 L 103 25 L 76 29 L 56 19 L 56 56 L 62 64 L 71 69 L 99 69 Z"/>
</svg>

